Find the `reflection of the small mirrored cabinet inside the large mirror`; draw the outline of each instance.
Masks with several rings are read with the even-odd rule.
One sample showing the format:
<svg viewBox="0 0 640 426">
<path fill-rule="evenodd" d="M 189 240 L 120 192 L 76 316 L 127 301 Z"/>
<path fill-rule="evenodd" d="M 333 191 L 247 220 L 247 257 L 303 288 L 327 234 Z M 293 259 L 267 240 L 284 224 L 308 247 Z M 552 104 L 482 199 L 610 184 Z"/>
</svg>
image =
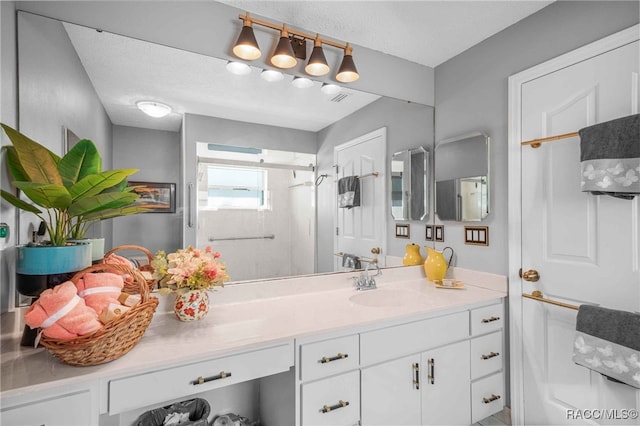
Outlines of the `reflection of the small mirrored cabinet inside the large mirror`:
<svg viewBox="0 0 640 426">
<path fill-rule="evenodd" d="M 425 220 L 429 214 L 429 152 L 412 148 L 391 157 L 391 216 Z"/>
</svg>

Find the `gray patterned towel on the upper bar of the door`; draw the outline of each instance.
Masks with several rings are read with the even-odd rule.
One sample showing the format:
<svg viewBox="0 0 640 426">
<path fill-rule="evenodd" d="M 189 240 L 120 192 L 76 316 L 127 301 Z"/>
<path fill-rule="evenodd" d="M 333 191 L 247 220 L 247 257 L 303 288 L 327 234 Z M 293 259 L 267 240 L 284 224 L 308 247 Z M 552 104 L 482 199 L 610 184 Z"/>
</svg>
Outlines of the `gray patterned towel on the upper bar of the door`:
<svg viewBox="0 0 640 426">
<path fill-rule="evenodd" d="M 640 194 L 640 114 L 578 133 L 583 192 L 624 199 Z"/>
</svg>

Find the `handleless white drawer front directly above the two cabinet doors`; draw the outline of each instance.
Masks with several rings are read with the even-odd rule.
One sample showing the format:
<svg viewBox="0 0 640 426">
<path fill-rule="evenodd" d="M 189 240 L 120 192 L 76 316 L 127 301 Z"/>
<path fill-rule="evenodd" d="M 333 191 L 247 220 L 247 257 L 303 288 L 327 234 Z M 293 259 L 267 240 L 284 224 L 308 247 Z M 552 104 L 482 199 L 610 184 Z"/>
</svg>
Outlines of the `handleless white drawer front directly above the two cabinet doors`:
<svg viewBox="0 0 640 426">
<path fill-rule="evenodd" d="M 360 361 L 383 362 L 468 337 L 468 311 L 387 327 L 360 335 Z"/>
</svg>

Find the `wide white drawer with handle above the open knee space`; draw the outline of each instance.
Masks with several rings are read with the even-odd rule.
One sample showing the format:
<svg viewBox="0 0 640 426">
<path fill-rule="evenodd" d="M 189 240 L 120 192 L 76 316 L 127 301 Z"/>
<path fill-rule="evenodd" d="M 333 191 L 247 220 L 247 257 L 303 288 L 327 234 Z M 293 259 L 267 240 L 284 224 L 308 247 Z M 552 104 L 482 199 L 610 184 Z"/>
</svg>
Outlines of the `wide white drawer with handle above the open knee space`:
<svg viewBox="0 0 640 426">
<path fill-rule="evenodd" d="M 288 371 L 293 343 L 109 382 L 109 414 Z"/>
</svg>

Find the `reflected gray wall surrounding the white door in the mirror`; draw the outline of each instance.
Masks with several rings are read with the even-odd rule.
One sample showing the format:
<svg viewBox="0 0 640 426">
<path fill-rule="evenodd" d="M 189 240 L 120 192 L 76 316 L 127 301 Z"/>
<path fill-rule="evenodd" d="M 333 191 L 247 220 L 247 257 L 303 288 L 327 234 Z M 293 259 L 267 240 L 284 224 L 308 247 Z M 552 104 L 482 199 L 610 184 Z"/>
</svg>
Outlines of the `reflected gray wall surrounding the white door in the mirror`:
<svg viewBox="0 0 640 426">
<path fill-rule="evenodd" d="M 321 130 L 318 134 L 318 175 L 328 174 L 329 178 L 318 187 L 318 271 L 333 270 L 333 206 L 335 191 L 335 169 L 333 168 L 333 149 L 381 127 L 387 128 L 387 161 L 391 161 L 394 152 L 423 146 L 433 152 L 433 107 L 392 98 L 381 98 L 365 108 L 351 114 L 343 120 Z M 430 154 L 431 155 L 431 154 Z M 388 187 L 390 183 L 387 184 Z M 390 195 L 388 195 L 390 198 Z M 430 197 L 431 198 L 431 197 Z M 430 202 L 433 206 L 433 203 Z M 390 204 L 389 204 L 390 206 Z M 405 246 L 410 242 L 424 243 L 424 222 L 411 223 L 410 241 L 395 238 L 395 221 L 391 217 L 391 207 L 387 216 L 387 253 L 403 256 Z M 431 207 L 430 207 L 431 210 Z M 429 217 L 432 217 L 430 214 Z M 422 249 L 424 253 L 424 249 Z"/>
</svg>

